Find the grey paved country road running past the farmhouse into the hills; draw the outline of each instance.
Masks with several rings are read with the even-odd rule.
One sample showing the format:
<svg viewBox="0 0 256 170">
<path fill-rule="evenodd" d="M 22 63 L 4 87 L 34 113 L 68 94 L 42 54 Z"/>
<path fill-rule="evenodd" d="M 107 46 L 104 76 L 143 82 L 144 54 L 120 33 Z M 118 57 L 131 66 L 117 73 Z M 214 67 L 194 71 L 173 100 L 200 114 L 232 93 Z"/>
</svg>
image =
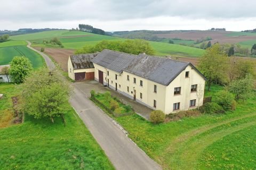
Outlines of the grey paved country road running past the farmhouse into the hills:
<svg viewBox="0 0 256 170">
<path fill-rule="evenodd" d="M 28 48 L 41 54 L 50 68 L 54 65 L 47 55 L 30 47 L 29 41 Z M 76 86 L 76 83 L 73 83 L 73 87 L 74 93 L 70 98 L 70 104 L 74 107 L 116 169 L 161 169 L 127 137 L 121 126 L 91 102 L 88 96 Z"/>
</svg>

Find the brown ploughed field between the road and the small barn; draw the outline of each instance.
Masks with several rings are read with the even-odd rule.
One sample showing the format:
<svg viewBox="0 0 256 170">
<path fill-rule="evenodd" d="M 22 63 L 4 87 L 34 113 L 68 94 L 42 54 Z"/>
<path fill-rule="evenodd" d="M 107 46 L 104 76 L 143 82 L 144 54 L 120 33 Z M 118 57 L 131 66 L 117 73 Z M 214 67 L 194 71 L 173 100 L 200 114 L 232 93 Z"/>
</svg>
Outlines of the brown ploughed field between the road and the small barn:
<svg viewBox="0 0 256 170">
<path fill-rule="evenodd" d="M 40 50 L 41 47 L 35 47 Z M 60 64 L 63 71 L 68 72 L 68 56 L 73 55 L 74 49 L 60 49 L 60 48 L 44 48 L 44 53 L 50 55 L 55 62 Z"/>
</svg>

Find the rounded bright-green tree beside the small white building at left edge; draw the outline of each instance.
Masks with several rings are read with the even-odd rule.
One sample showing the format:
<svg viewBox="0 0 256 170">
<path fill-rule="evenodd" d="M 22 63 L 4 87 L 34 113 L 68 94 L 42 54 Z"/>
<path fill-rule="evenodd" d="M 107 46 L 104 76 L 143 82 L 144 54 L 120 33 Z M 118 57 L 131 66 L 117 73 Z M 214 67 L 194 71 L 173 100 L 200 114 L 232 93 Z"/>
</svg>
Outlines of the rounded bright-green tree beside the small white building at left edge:
<svg viewBox="0 0 256 170">
<path fill-rule="evenodd" d="M 15 56 L 11 61 L 9 74 L 14 83 L 22 83 L 33 69 L 27 57 Z"/>
</svg>

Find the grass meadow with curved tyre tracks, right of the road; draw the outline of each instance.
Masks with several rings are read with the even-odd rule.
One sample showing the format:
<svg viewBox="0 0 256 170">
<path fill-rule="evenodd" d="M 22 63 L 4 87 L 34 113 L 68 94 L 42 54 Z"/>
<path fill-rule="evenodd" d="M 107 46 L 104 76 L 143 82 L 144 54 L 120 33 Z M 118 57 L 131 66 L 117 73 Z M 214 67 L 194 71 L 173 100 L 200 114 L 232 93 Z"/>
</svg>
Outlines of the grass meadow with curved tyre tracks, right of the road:
<svg viewBox="0 0 256 170">
<path fill-rule="evenodd" d="M 214 86 L 206 96 L 222 88 Z M 255 108 L 254 96 L 223 115 L 203 114 L 158 125 L 138 115 L 116 120 L 163 169 L 255 169 Z"/>
</svg>

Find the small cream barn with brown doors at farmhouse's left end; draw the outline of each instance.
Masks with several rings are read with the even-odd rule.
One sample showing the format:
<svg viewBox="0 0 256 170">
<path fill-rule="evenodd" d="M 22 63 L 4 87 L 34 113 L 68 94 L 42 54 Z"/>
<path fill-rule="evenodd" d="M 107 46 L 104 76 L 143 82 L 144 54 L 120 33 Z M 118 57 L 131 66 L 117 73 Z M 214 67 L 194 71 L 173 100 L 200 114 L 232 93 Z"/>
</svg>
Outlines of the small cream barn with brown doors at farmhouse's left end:
<svg viewBox="0 0 256 170">
<path fill-rule="evenodd" d="M 94 80 L 92 59 L 98 53 L 78 54 L 68 57 L 68 77 L 75 81 Z"/>
</svg>

